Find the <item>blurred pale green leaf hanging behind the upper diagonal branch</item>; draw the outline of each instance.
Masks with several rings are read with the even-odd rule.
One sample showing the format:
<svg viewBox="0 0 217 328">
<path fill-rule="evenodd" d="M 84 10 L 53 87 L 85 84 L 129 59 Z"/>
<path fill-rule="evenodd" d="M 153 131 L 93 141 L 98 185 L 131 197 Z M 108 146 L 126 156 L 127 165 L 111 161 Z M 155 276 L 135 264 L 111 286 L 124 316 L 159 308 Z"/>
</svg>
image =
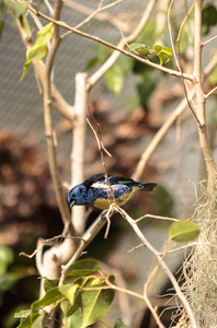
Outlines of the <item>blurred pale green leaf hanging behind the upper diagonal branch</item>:
<svg viewBox="0 0 217 328">
<path fill-rule="evenodd" d="M 117 63 L 105 73 L 106 85 L 115 95 L 121 93 L 124 85 L 124 71 Z"/>
</svg>

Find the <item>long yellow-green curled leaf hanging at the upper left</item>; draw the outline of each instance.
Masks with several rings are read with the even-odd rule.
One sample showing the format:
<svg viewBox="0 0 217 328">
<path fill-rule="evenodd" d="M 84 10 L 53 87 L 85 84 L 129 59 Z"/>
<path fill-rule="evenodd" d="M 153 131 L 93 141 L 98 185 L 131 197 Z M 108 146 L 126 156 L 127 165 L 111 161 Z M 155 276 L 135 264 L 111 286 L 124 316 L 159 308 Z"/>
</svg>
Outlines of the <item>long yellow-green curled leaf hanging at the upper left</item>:
<svg viewBox="0 0 217 328">
<path fill-rule="evenodd" d="M 27 73 L 28 66 L 33 60 L 41 60 L 47 55 L 47 43 L 53 37 L 54 24 L 49 23 L 37 32 L 36 42 L 34 46 L 26 51 L 26 61 L 23 66 L 23 74 L 20 81 L 23 80 Z"/>
</svg>

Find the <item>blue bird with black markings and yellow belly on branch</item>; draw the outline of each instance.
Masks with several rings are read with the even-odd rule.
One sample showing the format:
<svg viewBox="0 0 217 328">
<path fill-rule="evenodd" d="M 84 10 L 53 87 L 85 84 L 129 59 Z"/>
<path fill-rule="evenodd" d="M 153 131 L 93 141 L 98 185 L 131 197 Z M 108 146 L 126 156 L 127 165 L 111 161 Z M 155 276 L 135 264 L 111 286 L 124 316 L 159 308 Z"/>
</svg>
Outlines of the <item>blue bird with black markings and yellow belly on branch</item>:
<svg viewBox="0 0 217 328">
<path fill-rule="evenodd" d="M 115 201 L 118 206 L 125 204 L 137 190 L 151 191 L 157 184 L 140 184 L 130 178 L 108 175 Z M 113 195 L 104 174 L 96 174 L 69 191 L 70 208 L 76 206 L 94 206 L 101 210 L 110 208 Z"/>
</svg>

